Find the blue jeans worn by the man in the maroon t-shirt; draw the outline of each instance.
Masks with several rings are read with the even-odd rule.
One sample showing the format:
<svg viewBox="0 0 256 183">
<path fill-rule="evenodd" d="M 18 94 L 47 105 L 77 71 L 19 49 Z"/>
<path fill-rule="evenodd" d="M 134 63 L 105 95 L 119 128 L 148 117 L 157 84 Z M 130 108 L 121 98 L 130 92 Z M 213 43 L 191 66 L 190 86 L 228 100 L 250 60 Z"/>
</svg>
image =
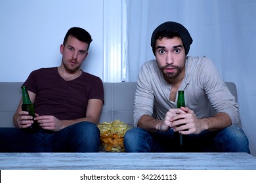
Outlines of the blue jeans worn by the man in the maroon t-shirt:
<svg viewBox="0 0 256 183">
<path fill-rule="evenodd" d="M 0 128 L 0 152 L 98 152 L 99 145 L 100 131 L 91 122 L 80 122 L 57 132 Z"/>
</svg>

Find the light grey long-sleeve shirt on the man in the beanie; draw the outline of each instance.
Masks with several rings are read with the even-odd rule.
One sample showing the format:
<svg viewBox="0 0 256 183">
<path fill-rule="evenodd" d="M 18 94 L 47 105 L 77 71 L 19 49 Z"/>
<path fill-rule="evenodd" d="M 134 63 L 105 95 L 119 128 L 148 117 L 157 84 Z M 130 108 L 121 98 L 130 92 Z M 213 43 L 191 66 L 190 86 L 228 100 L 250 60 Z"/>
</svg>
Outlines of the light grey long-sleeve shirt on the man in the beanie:
<svg viewBox="0 0 256 183">
<path fill-rule="evenodd" d="M 179 90 L 184 90 L 186 107 L 194 110 L 198 118 L 209 117 L 209 103 L 216 112 L 230 116 L 232 124 L 240 121 L 238 103 L 224 84 L 213 61 L 206 57 L 187 57 L 185 76 Z M 170 108 L 176 108 L 175 102 L 169 100 L 171 84 L 168 84 L 161 73 L 156 60 L 147 61 L 140 69 L 133 118 L 135 126 L 144 114 L 163 120 Z M 155 108 L 155 109 L 154 109 Z"/>
</svg>

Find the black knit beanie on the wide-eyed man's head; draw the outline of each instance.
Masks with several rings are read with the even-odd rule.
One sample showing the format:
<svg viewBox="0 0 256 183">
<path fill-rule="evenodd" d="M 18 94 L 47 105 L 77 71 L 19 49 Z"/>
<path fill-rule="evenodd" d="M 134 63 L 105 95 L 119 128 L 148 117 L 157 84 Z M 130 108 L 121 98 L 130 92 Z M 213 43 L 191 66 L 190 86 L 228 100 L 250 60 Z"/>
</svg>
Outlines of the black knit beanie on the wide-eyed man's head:
<svg viewBox="0 0 256 183">
<path fill-rule="evenodd" d="M 177 33 L 179 37 L 181 37 L 186 55 L 188 54 L 190 44 L 192 44 L 193 39 L 190 36 L 188 30 L 183 25 L 177 22 L 165 22 L 159 25 L 158 27 L 156 27 L 151 37 L 151 47 L 152 47 L 153 53 L 155 53 L 154 49 L 155 49 L 156 39 L 158 39 L 155 36 L 158 33 L 158 31 L 169 31 L 169 32 Z"/>
</svg>

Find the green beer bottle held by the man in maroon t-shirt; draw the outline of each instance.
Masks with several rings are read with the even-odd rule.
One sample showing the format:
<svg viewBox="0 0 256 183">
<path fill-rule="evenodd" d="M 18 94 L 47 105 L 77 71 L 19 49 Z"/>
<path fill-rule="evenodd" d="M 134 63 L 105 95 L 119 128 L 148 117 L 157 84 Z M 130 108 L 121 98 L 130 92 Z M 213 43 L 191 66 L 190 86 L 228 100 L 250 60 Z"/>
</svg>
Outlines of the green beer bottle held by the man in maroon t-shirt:
<svg viewBox="0 0 256 183">
<path fill-rule="evenodd" d="M 33 108 L 33 103 L 30 101 L 30 95 L 28 95 L 28 89 L 26 86 L 22 86 L 22 110 L 28 111 L 30 116 L 35 118 L 35 110 Z M 33 124 L 26 128 L 29 132 L 36 132 L 39 129 L 39 124 L 37 121 L 33 120 Z"/>
</svg>

